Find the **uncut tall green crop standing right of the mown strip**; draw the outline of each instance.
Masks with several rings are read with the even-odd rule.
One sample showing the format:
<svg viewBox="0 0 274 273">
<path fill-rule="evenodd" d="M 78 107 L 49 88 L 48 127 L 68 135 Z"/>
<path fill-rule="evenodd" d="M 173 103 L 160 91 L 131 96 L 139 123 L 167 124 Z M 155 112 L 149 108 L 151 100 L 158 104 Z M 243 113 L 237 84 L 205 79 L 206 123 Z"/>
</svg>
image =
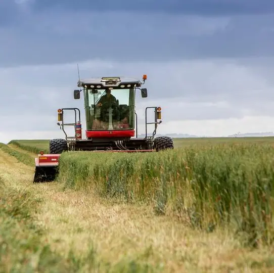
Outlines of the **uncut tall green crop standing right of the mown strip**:
<svg viewBox="0 0 274 273">
<path fill-rule="evenodd" d="M 236 226 L 248 243 L 271 244 L 274 149 L 220 144 L 150 154 L 64 153 L 59 180 L 107 198 L 153 204 L 195 228 Z"/>
</svg>

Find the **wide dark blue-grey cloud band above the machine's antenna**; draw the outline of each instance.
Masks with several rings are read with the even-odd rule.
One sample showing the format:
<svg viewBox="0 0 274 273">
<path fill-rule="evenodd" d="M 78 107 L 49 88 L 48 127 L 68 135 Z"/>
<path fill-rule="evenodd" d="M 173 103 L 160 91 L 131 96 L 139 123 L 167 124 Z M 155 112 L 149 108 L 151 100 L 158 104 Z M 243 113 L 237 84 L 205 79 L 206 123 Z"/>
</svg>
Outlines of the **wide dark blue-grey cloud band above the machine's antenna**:
<svg viewBox="0 0 274 273">
<path fill-rule="evenodd" d="M 74 20 L 77 18 L 77 20 Z M 274 19 L 84 13 L 37 14 L 0 28 L 0 66 L 112 61 L 176 61 L 273 56 Z M 35 23 L 34 23 L 35 22 Z"/>
</svg>

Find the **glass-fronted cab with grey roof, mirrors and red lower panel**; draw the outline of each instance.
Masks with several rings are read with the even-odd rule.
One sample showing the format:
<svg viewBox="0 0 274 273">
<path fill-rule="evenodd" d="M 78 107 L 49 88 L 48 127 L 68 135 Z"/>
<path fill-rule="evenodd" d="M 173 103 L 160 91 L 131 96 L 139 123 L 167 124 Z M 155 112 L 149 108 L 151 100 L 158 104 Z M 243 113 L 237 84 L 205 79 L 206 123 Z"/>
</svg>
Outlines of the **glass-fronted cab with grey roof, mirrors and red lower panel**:
<svg viewBox="0 0 274 273">
<path fill-rule="evenodd" d="M 144 82 L 146 78 L 144 75 Z M 143 83 L 121 77 L 80 80 L 78 86 L 83 89 L 74 90 L 74 99 L 83 93 L 87 139 L 113 134 L 134 136 L 136 89 L 141 90 L 143 98 L 147 97 L 147 89 L 139 88 Z"/>
</svg>

